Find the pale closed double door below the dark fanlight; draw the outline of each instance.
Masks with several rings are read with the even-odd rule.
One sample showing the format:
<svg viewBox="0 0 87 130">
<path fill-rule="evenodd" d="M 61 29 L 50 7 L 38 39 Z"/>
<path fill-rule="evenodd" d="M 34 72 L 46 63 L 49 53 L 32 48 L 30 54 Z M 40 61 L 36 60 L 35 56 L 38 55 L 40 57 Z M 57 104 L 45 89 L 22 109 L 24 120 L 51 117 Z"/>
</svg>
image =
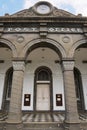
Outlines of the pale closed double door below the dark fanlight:
<svg viewBox="0 0 87 130">
<path fill-rule="evenodd" d="M 36 110 L 50 110 L 49 84 L 37 85 Z"/>
</svg>

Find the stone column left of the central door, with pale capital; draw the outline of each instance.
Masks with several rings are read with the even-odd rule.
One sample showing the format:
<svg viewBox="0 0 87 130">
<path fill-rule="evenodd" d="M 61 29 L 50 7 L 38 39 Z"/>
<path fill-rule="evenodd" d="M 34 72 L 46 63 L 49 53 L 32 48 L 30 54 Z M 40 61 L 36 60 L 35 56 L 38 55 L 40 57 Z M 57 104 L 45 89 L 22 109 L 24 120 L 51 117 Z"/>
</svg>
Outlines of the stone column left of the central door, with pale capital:
<svg viewBox="0 0 87 130">
<path fill-rule="evenodd" d="M 13 80 L 7 130 L 22 130 L 22 88 L 24 79 L 24 61 L 13 61 Z"/>
</svg>

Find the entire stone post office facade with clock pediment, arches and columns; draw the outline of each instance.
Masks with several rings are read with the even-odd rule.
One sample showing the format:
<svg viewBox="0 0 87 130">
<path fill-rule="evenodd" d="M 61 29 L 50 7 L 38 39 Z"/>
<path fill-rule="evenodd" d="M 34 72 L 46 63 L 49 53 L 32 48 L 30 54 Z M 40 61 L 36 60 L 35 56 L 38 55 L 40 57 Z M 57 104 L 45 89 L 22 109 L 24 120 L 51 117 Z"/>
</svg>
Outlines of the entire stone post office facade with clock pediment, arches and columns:
<svg viewBox="0 0 87 130">
<path fill-rule="evenodd" d="M 0 109 L 7 130 L 22 129 L 22 111 L 64 112 L 79 130 L 87 111 L 87 17 L 48 2 L 0 16 Z"/>
</svg>

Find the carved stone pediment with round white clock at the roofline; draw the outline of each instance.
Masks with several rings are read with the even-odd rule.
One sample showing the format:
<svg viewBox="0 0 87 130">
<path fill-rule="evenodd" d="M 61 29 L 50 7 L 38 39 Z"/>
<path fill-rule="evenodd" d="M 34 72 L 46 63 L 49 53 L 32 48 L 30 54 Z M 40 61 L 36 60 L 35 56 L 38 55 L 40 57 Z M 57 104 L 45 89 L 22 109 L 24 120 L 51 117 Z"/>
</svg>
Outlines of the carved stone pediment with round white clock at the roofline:
<svg viewBox="0 0 87 130">
<path fill-rule="evenodd" d="M 40 12 L 41 11 L 41 12 Z M 46 13 L 47 11 L 47 13 Z M 75 15 L 58 9 L 56 7 L 53 7 L 50 3 L 48 2 L 38 2 L 36 3 L 33 7 L 29 9 L 22 10 L 20 12 L 17 12 L 13 15 L 12 17 L 76 17 Z"/>
</svg>

